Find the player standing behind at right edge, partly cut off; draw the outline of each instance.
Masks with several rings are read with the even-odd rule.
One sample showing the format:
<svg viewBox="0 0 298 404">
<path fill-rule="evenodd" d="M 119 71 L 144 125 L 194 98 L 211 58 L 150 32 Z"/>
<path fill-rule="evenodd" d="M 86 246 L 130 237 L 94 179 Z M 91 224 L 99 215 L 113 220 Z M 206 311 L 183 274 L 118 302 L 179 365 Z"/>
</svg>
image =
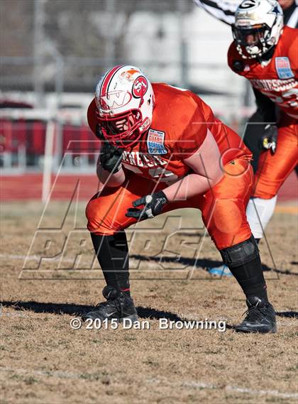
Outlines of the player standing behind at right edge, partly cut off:
<svg viewBox="0 0 298 404">
<path fill-rule="evenodd" d="M 277 192 L 298 163 L 298 30 L 283 26 L 275 0 L 245 0 L 232 26 L 228 65 L 280 109 L 265 128 L 248 222 L 257 241 L 274 212 Z"/>
</svg>

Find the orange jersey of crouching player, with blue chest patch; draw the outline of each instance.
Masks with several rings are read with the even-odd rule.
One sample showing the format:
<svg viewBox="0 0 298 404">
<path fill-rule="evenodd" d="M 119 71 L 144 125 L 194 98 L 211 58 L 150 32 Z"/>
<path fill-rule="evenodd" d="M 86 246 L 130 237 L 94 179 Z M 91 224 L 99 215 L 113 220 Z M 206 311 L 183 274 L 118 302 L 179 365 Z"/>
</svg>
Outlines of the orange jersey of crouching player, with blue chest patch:
<svg viewBox="0 0 298 404">
<path fill-rule="evenodd" d="M 134 173 L 162 182 L 172 182 L 191 169 L 184 159 L 202 145 L 207 129 L 221 151 L 221 164 L 251 153 L 241 138 L 214 117 L 211 108 L 196 94 L 167 84 L 153 83 L 155 107 L 148 133 L 133 148 L 124 149 L 122 164 Z M 89 126 L 96 133 L 96 104 L 89 105 Z"/>
</svg>

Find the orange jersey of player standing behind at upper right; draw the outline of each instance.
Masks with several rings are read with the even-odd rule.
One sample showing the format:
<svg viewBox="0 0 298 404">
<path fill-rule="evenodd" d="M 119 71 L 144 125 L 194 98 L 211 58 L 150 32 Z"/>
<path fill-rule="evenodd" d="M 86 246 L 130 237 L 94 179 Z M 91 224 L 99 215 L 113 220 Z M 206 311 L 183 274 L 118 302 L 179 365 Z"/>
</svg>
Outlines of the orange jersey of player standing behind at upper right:
<svg viewBox="0 0 298 404">
<path fill-rule="evenodd" d="M 233 42 L 228 50 L 233 72 L 250 80 L 255 89 L 272 99 L 282 111 L 298 119 L 298 29 L 285 26 L 272 59 L 243 59 Z"/>
</svg>

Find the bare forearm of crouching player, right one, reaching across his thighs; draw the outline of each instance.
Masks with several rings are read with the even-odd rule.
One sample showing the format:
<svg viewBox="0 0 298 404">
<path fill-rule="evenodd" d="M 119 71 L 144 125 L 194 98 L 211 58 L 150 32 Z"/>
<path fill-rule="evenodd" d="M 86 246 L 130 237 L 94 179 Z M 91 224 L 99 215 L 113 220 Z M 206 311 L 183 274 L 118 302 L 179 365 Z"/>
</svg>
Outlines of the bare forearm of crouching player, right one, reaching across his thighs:
<svg viewBox="0 0 298 404">
<path fill-rule="evenodd" d="M 221 178 L 223 178 L 222 172 L 217 173 L 214 178 L 206 178 L 202 175 L 192 173 L 162 191 L 165 193 L 169 202 L 187 200 L 196 195 L 206 193 L 211 187 L 214 187 Z"/>
</svg>

